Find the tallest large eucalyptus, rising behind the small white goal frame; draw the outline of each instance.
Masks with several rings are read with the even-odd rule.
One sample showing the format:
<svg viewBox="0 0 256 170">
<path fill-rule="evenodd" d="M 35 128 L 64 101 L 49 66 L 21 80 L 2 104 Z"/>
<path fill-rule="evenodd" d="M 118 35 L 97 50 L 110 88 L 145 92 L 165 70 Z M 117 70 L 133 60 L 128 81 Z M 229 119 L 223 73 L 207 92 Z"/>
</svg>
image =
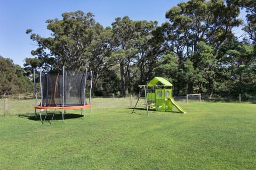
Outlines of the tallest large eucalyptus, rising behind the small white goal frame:
<svg viewBox="0 0 256 170">
<path fill-rule="evenodd" d="M 190 0 L 188 2 L 179 3 L 166 12 L 168 23 L 163 24 L 167 40 L 166 46 L 179 57 L 180 64 L 184 65 L 189 60 L 196 72 L 191 77 L 187 77 L 187 92 L 193 93 L 205 91 L 205 87 L 209 87 L 208 92 L 212 94 L 214 87 L 214 69 L 218 50 L 221 46 L 228 43 L 234 37 L 232 29 L 241 24 L 242 20 L 237 19 L 239 15 L 239 6 L 233 3 L 223 2 L 221 0 Z M 211 54 L 207 54 L 207 60 L 197 60 L 199 51 L 199 43 L 204 42 L 205 48 L 209 46 L 213 50 L 207 50 Z M 203 44 L 201 44 L 203 45 Z M 206 47 L 206 48 L 209 48 Z M 205 55 L 205 54 L 204 54 Z M 212 62 L 208 62 L 212 60 Z M 207 61 L 202 64 L 202 62 Z M 188 62 L 189 63 L 189 62 Z M 207 72 L 211 72 L 211 76 L 201 73 L 205 71 L 205 64 L 211 64 L 207 67 Z M 184 65 L 185 66 L 185 65 Z M 183 69 L 185 67 L 183 66 Z M 203 75 L 204 86 L 198 81 L 198 77 Z M 209 83 L 209 84 L 207 84 Z"/>
</svg>

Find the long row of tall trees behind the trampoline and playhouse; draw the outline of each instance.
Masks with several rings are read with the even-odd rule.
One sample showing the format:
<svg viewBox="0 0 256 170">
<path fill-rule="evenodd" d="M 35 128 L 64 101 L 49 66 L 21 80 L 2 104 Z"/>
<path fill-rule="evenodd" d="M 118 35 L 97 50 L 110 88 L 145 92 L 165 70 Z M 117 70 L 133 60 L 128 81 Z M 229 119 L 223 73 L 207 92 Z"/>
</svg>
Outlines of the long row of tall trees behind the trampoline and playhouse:
<svg viewBox="0 0 256 170">
<path fill-rule="evenodd" d="M 37 48 L 24 71 L 87 67 L 93 71 L 94 95 L 124 97 L 153 77 L 170 80 L 174 95 L 256 95 L 255 5 L 254 0 L 190 0 L 170 7 L 162 25 L 123 16 L 107 28 L 91 12 L 65 12 L 62 19 L 46 21 L 50 37 L 26 31 Z M 239 18 L 242 9 L 245 21 Z M 237 38 L 233 30 L 241 25 L 245 36 Z"/>
</svg>

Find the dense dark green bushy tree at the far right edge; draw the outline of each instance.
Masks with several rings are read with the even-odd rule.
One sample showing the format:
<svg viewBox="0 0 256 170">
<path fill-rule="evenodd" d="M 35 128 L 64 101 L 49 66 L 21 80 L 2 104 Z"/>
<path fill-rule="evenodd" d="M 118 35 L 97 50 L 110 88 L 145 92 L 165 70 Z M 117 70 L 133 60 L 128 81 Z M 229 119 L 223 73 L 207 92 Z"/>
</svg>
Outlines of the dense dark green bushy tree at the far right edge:
<svg viewBox="0 0 256 170">
<path fill-rule="evenodd" d="M 253 46 L 234 41 L 227 48 L 222 72 L 228 83 L 228 93 L 251 95 L 255 93 L 255 55 Z"/>
</svg>

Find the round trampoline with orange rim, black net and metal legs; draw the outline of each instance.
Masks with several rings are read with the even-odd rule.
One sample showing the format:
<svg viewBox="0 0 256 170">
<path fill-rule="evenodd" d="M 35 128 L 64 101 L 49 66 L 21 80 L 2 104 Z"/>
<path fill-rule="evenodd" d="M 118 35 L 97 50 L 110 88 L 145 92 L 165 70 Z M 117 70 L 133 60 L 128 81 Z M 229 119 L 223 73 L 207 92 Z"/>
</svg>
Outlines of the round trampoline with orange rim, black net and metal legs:
<svg viewBox="0 0 256 170">
<path fill-rule="evenodd" d="M 47 115 L 52 114 L 50 124 L 54 118 L 57 109 L 61 109 L 62 121 L 66 109 L 81 109 L 81 114 L 85 117 L 85 108 L 90 108 L 92 113 L 91 91 L 92 91 L 92 71 L 90 90 L 86 91 L 87 69 L 81 71 L 66 71 L 64 67 L 62 72 L 50 73 L 43 71 L 42 67 L 39 72 L 39 84 L 41 93 L 41 102 L 38 105 L 38 90 L 36 87 L 36 78 L 34 71 L 35 84 L 35 117 L 38 115 L 36 109 L 39 109 L 40 120 L 44 124 Z M 89 96 L 89 102 L 86 101 L 86 95 Z M 50 110 L 53 110 L 50 112 Z M 42 113 L 45 117 L 42 119 Z"/>
</svg>

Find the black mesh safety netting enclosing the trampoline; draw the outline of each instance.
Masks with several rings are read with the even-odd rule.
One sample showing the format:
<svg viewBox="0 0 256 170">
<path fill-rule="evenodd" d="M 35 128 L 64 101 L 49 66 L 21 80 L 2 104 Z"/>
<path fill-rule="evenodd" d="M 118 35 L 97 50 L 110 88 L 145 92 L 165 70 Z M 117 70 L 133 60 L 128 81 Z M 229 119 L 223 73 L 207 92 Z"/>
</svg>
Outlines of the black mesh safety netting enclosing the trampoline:
<svg viewBox="0 0 256 170">
<path fill-rule="evenodd" d="M 86 72 L 65 71 L 42 73 L 41 106 L 83 106 L 85 101 Z"/>
</svg>

